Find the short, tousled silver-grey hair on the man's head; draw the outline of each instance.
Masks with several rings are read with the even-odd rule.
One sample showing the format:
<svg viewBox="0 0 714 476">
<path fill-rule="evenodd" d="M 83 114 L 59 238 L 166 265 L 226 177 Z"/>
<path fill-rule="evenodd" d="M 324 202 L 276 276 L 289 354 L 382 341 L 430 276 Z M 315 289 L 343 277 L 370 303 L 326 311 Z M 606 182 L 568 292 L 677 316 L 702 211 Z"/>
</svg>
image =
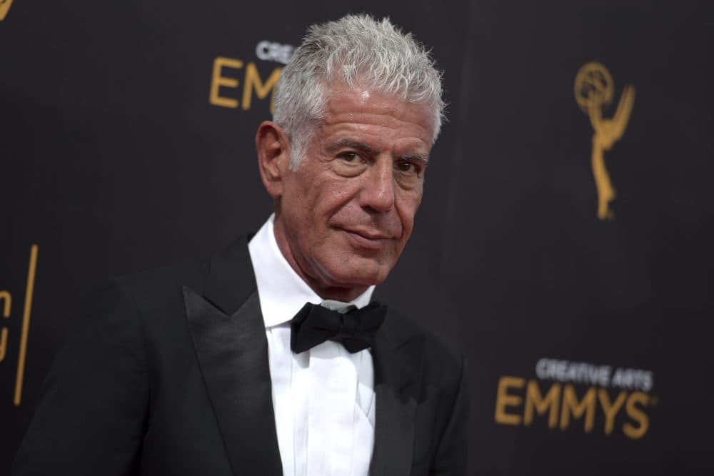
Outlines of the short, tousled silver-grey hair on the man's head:
<svg viewBox="0 0 714 476">
<path fill-rule="evenodd" d="M 324 118 L 329 84 L 366 87 L 433 110 L 433 141 L 444 118 L 441 71 L 422 44 L 388 18 L 347 15 L 308 28 L 303 43 L 283 69 L 273 122 L 290 138 L 294 170 L 316 126 Z"/>
</svg>

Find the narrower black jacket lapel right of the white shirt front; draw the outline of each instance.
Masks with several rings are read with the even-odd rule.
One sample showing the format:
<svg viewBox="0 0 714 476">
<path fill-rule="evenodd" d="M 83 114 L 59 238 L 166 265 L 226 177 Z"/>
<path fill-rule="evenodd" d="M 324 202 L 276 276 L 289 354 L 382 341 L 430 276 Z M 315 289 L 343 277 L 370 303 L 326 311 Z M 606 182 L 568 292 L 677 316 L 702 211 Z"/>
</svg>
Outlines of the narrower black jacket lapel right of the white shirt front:
<svg viewBox="0 0 714 476">
<path fill-rule="evenodd" d="M 423 336 L 403 332 L 394 322 L 399 318 L 387 315 L 372 348 L 376 427 L 371 476 L 411 473 Z"/>
</svg>

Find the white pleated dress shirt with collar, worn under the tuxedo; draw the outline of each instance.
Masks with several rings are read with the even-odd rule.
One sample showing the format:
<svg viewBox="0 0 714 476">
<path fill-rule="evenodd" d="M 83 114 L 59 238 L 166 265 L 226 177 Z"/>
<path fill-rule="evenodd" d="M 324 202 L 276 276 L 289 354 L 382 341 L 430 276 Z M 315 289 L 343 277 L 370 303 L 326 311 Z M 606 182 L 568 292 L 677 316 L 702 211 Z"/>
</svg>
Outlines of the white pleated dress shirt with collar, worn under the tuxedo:
<svg viewBox="0 0 714 476">
<path fill-rule="evenodd" d="M 367 475 L 374 445 L 374 368 L 369 350 L 327 341 L 294 354 L 290 320 L 305 303 L 363 308 L 371 286 L 350 303 L 325 301 L 291 268 L 273 233 L 274 214 L 248 243 L 268 337 L 278 448 L 286 476 Z"/>
</svg>

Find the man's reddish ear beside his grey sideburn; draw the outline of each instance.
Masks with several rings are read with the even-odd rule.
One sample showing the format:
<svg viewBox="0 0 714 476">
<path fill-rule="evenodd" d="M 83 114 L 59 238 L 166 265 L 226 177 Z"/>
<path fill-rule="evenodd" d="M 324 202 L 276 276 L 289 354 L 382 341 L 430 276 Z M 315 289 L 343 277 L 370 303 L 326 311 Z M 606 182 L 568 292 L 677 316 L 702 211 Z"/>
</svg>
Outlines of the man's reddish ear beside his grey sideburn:
<svg viewBox="0 0 714 476">
<path fill-rule="evenodd" d="M 263 121 L 256 133 L 258 169 L 263 186 L 273 198 L 283 195 L 283 178 L 290 168 L 290 140 L 276 123 Z"/>
</svg>

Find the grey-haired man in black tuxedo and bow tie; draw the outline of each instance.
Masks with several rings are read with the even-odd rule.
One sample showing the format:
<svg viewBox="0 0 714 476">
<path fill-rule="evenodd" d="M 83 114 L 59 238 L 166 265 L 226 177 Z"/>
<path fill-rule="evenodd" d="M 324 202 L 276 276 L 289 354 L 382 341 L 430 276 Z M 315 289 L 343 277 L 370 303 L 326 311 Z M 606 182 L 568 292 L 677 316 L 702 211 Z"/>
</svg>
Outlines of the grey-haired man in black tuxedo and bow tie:
<svg viewBox="0 0 714 476">
<path fill-rule="evenodd" d="M 206 265 L 101 290 L 14 474 L 463 474 L 463 359 L 368 305 L 442 111 L 433 62 L 388 20 L 312 26 L 256 134 L 274 215 Z"/>
</svg>

